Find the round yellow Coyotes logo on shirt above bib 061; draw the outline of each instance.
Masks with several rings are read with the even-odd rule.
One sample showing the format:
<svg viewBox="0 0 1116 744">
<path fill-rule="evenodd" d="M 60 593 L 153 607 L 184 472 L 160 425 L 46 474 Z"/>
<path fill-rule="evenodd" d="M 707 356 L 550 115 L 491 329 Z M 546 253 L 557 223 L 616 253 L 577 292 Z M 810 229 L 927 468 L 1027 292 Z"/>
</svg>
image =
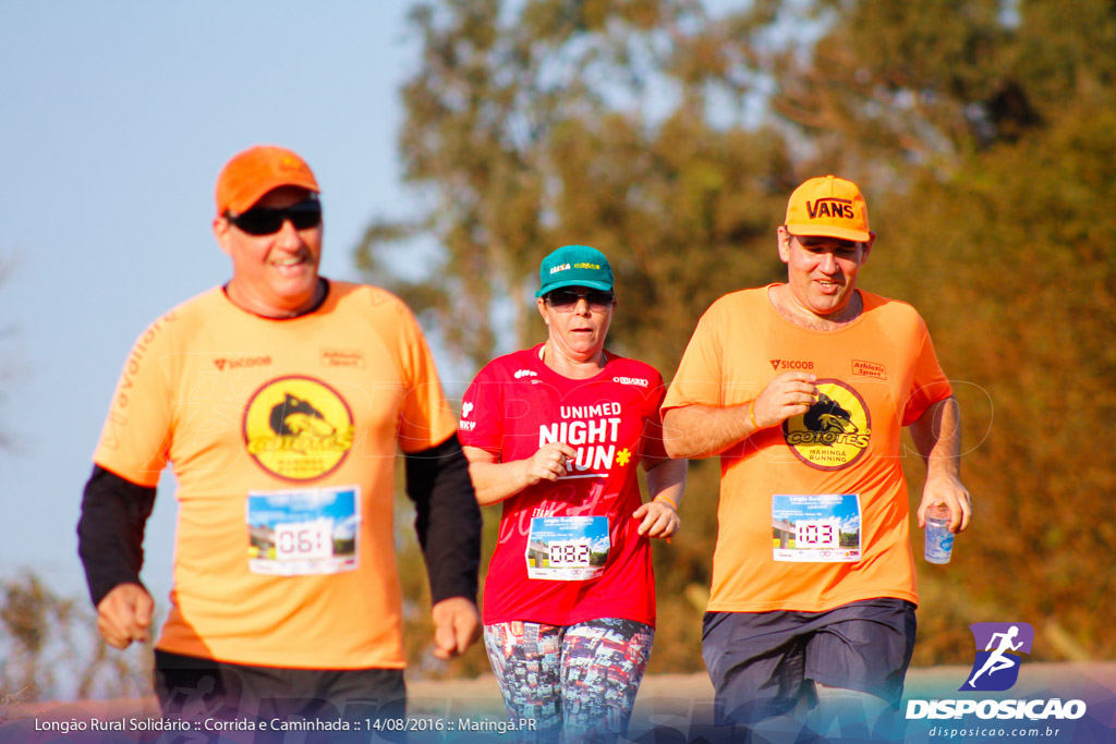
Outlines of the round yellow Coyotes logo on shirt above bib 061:
<svg viewBox="0 0 1116 744">
<path fill-rule="evenodd" d="M 353 446 L 353 413 L 325 383 L 282 377 L 257 390 L 244 412 L 244 445 L 259 465 L 288 481 L 312 481 Z"/>
</svg>

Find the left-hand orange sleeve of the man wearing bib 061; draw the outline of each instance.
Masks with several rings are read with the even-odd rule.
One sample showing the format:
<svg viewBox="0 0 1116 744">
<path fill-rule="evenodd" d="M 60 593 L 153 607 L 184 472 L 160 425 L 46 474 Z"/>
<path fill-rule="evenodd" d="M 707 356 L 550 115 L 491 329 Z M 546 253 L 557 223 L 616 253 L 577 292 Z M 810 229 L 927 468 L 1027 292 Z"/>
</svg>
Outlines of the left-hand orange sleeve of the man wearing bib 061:
<svg viewBox="0 0 1116 744">
<path fill-rule="evenodd" d="M 124 364 L 93 460 L 107 471 L 154 487 L 171 446 L 173 315 L 152 323 Z"/>
</svg>

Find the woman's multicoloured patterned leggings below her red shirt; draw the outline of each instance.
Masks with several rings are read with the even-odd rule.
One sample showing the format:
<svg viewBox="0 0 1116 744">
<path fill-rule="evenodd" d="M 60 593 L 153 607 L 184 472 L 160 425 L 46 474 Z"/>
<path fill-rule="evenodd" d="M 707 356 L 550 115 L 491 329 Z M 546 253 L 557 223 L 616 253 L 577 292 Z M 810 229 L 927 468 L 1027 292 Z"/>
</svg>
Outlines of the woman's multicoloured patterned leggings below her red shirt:
<svg viewBox="0 0 1116 744">
<path fill-rule="evenodd" d="M 655 629 L 602 618 L 571 626 L 484 626 L 484 647 L 521 742 L 616 741 L 627 729 Z"/>
</svg>

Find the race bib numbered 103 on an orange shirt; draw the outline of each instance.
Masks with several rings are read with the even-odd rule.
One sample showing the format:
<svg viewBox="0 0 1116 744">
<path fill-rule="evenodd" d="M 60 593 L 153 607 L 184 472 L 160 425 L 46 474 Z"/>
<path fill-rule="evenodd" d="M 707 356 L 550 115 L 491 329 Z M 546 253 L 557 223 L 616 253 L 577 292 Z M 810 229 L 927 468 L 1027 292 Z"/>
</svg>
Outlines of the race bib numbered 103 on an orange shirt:
<svg viewBox="0 0 1116 744">
<path fill-rule="evenodd" d="M 855 493 L 771 496 L 775 560 L 855 563 L 860 560 L 860 497 Z"/>
</svg>

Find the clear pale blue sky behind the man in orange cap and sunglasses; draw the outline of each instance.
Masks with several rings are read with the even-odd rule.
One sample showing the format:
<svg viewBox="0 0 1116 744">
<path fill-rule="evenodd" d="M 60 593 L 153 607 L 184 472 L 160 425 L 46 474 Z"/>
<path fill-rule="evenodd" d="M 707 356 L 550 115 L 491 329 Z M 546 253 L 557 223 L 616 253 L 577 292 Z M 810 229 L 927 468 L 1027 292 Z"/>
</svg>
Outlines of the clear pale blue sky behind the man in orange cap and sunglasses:
<svg viewBox="0 0 1116 744">
<path fill-rule="evenodd" d="M 228 279 L 210 222 L 231 155 L 307 158 L 327 277 L 356 279 L 367 223 L 406 211 L 406 6 L 0 0 L 0 573 L 84 596 L 75 524 L 109 396 L 148 322 Z M 164 611 L 173 520 L 164 477 L 144 571 Z"/>
</svg>

